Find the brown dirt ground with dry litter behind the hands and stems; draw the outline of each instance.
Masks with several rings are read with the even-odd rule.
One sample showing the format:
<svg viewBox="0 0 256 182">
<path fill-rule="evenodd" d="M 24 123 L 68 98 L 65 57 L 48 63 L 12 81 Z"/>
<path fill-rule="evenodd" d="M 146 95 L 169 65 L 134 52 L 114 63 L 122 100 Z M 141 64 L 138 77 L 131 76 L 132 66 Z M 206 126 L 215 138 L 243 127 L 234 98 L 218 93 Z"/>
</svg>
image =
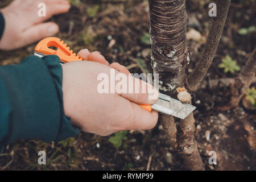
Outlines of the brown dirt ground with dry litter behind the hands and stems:
<svg viewBox="0 0 256 182">
<path fill-rule="evenodd" d="M 1 1 L 0 7 L 10 1 Z M 139 0 L 72 0 L 67 14 L 51 20 L 60 26 L 56 36 L 73 51 L 82 48 L 98 50 L 112 63 L 117 61 L 132 73 L 150 71 L 148 2 Z M 187 1 L 188 32 L 196 30 L 199 38 L 188 37 L 191 63 L 195 68 L 209 31 L 210 1 Z M 255 170 L 256 115 L 242 104 L 221 111 L 228 102 L 228 86 L 214 86 L 214 79 L 234 78 L 218 68 L 227 55 L 242 67 L 255 46 L 255 30 L 241 35 L 241 28 L 255 26 L 255 1 L 232 1 L 224 32 L 213 64 L 197 92 L 192 93 L 196 119 L 196 139 L 206 170 Z M 255 27 L 256 28 L 256 27 Z M 194 34 L 192 34 L 194 35 Z M 0 52 L 0 65 L 18 64 L 31 55 L 36 44 L 11 52 Z M 252 85 L 255 86 L 255 83 Z M 112 135 L 113 136 L 113 135 Z M 110 136 L 111 137 L 111 136 Z M 180 170 L 179 155 L 168 146 L 162 125 L 151 131 L 123 133 L 121 147 L 115 148 L 110 137 L 81 133 L 61 143 L 21 140 L 10 144 L 0 156 L 2 170 Z M 38 165 L 38 151 L 47 151 L 47 165 Z M 217 165 L 208 163 L 209 151 L 217 152 Z"/>
</svg>

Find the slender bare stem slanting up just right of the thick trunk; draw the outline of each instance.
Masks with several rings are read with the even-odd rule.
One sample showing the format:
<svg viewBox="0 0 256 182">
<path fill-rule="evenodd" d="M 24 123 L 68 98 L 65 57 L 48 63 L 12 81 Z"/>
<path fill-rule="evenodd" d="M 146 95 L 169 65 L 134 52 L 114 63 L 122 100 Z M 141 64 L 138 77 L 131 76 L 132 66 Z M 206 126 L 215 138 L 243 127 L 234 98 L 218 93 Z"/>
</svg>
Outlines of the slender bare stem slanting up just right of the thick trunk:
<svg viewBox="0 0 256 182">
<path fill-rule="evenodd" d="M 217 0 L 216 5 L 217 16 L 213 17 L 212 23 L 210 24 L 207 43 L 205 44 L 200 60 L 197 61 L 196 68 L 186 78 L 186 88 L 191 92 L 199 88 L 201 81 L 212 64 L 226 22 L 226 16 L 228 15 L 230 0 Z"/>
</svg>

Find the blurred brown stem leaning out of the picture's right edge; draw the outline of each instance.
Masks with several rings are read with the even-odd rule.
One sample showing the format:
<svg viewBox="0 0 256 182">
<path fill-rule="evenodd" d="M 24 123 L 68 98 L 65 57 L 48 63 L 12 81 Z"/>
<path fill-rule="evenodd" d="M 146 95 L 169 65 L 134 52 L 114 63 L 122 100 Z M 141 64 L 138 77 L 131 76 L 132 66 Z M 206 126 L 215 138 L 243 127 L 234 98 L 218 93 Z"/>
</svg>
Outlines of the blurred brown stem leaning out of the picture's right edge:
<svg viewBox="0 0 256 182">
<path fill-rule="evenodd" d="M 249 88 L 251 82 L 255 78 L 256 72 L 256 46 L 251 53 L 249 59 L 246 61 L 245 66 L 242 68 L 240 75 L 232 85 L 232 96 L 230 98 L 229 107 L 238 106 L 241 98 Z"/>
</svg>

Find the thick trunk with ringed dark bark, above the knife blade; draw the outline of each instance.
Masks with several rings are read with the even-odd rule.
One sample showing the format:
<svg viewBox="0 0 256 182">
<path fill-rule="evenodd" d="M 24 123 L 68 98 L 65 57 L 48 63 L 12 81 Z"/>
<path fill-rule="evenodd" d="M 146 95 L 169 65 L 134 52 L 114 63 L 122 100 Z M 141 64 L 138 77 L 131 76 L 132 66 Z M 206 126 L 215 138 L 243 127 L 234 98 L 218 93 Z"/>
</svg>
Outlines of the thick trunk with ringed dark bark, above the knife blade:
<svg viewBox="0 0 256 182">
<path fill-rule="evenodd" d="M 185 0 L 149 0 L 151 67 L 159 73 L 159 89 L 174 95 L 185 78 L 186 24 Z"/>
</svg>

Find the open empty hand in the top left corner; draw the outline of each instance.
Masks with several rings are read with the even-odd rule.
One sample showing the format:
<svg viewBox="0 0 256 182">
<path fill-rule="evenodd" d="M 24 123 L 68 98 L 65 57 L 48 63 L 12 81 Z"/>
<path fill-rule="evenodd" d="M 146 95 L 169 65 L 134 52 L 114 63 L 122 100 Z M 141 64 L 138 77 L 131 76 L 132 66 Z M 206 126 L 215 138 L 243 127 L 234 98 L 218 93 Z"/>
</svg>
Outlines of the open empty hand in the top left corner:
<svg viewBox="0 0 256 182">
<path fill-rule="evenodd" d="M 39 3 L 46 4 L 46 17 L 38 16 Z M 66 13 L 71 5 L 67 0 L 15 0 L 4 9 L 5 31 L 0 41 L 0 49 L 12 50 L 26 46 L 59 32 L 53 22 L 42 23 L 51 16 Z"/>
</svg>

